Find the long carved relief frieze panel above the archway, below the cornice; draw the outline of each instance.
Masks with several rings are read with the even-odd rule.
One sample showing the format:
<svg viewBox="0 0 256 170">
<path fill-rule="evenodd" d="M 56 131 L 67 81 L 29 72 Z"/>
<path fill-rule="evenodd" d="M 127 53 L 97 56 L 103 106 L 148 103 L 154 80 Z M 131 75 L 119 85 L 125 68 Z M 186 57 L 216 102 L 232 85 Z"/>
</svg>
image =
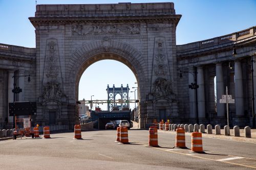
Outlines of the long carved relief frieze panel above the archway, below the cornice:
<svg viewBox="0 0 256 170">
<path fill-rule="evenodd" d="M 140 34 L 139 25 L 72 25 L 73 36 Z"/>
</svg>

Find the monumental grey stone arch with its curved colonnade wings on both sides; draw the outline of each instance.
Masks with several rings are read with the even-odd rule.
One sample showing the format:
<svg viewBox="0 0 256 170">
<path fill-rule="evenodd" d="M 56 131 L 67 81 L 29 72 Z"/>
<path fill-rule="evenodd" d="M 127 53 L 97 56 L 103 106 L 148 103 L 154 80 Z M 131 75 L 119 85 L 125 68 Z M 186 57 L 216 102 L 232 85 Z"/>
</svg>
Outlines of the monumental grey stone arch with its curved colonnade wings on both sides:
<svg viewBox="0 0 256 170">
<path fill-rule="evenodd" d="M 0 127 L 12 125 L 8 103 L 13 102 L 14 75 L 31 77 L 31 82 L 17 79 L 23 92 L 16 94 L 16 101 L 36 102 L 34 124 L 74 127 L 80 77 L 104 59 L 120 61 L 134 72 L 140 128 L 150 126 L 153 119 L 224 125 L 225 108 L 216 101 L 226 86 L 239 101 L 230 107 L 231 123 L 251 124 L 250 93 L 241 90 L 256 88 L 246 65 L 255 52 L 248 45 L 255 45 L 256 28 L 176 45 L 180 18 L 173 3 L 37 5 L 35 16 L 29 18 L 36 47 L 0 44 Z M 231 59 L 234 44 L 239 55 Z M 188 88 L 195 79 L 199 88 Z"/>
</svg>

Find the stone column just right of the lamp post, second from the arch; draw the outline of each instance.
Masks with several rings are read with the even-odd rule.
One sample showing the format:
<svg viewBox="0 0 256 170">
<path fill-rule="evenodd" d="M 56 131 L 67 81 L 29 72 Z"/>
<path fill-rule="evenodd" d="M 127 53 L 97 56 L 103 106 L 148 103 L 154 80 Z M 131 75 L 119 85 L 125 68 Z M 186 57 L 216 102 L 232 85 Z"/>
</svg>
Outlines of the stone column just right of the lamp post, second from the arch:
<svg viewBox="0 0 256 170">
<path fill-rule="evenodd" d="M 197 83 L 199 88 L 197 89 L 198 96 L 198 117 L 205 118 L 205 99 L 204 99 L 204 74 L 203 67 L 197 69 Z"/>
</svg>

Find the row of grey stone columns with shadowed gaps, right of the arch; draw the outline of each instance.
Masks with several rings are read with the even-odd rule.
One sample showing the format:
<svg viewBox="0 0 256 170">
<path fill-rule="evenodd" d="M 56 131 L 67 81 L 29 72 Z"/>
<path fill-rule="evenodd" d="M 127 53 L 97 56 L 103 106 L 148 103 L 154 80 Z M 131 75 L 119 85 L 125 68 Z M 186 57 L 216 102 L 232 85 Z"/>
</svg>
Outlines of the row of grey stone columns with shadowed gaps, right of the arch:
<svg viewBox="0 0 256 170">
<path fill-rule="evenodd" d="M 256 58 L 255 58 L 256 59 Z M 255 60 L 253 59 L 253 60 Z M 226 62 L 226 61 L 224 61 Z M 232 109 L 233 113 L 229 113 L 232 114 L 232 122 L 233 122 L 233 126 L 235 125 L 245 125 L 245 124 L 249 124 L 250 120 L 248 118 L 245 117 L 245 110 L 247 110 L 249 112 L 248 116 L 251 116 L 251 80 L 248 81 L 248 79 L 250 79 L 250 75 L 247 74 L 247 71 L 249 70 L 248 66 L 246 67 L 246 69 L 244 69 L 242 67 L 242 63 L 244 61 L 241 60 L 235 60 L 234 61 L 234 68 L 230 69 L 227 64 L 224 62 L 218 62 L 215 63 L 215 76 L 216 76 L 216 102 L 217 102 L 217 114 L 214 116 L 214 119 L 216 120 L 216 124 L 220 124 L 220 125 L 226 125 L 226 104 L 222 104 L 220 103 L 220 99 L 222 99 L 222 95 L 226 94 L 226 86 L 228 86 L 228 94 L 232 94 L 232 99 L 235 100 L 235 103 L 230 106 L 231 104 L 229 104 L 229 106 Z M 214 66 L 214 65 L 211 65 Z M 208 66 L 204 67 L 203 65 L 197 66 L 197 67 L 190 67 L 188 69 L 188 72 L 194 72 L 197 74 L 188 74 L 188 83 L 194 83 L 194 75 L 197 76 L 197 84 L 199 85 L 199 88 L 197 89 L 197 95 L 196 95 L 196 90 L 195 89 L 189 89 L 189 117 L 190 119 L 195 119 L 197 118 L 197 114 L 198 114 L 198 118 L 200 120 L 200 123 L 207 123 L 209 122 L 207 120 L 207 116 L 209 117 L 210 115 L 206 115 L 206 107 L 210 107 L 209 103 L 207 103 L 207 101 L 205 100 L 205 96 L 207 96 L 206 93 L 209 93 L 209 91 L 205 91 L 205 81 L 204 78 L 209 76 L 207 75 L 207 71 L 205 71 L 205 69 L 207 69 Z M 253 67 L 256 69 L 256 63 L 253 63 Z M 229 69 L 229 70 L 227 70 Z M 245 74 L 243 74 L 243 72 L 245 72 Z M 233 76 L 230 76 L 232 75 Z M 247 76 L 244 76 L 247 75 Z M 226 80 L 227 79 L 227 80 Z M 232 86 L 231 83 L 229 83 L 230 79 L 234 79 L 234 86 Z M 245 80 L 246 79 L 246 80 Z M 207 79 L 210 81 L 213 81 L 213 79 Z M 253 76 L 253 81 L 256 82 L 256 76 L 254 74 Z M 246 83 L 245 83 L 246 82 Z M 248 84 L 247 84 L 248 83 Z M 209 83 L 208 83 L 209 84 Z M 214 83 L 213 83 L 214 84 Z M 256 91 L 256 85 L 254 84 L 254 91 Z M 210 86 L 208 88 L 206 88 L 208 90 L 211 91 L 211 93 L 213 93 L 213 91 L 215 91 L 215 89 Z M 231 90 L 230 90 L 231 89 Z M 213 91 L 212 91 L 213 90 Z M 247 91 L 245 91 L 247 90 Z M 232 93 L 233 91 L 233 93 Z M 247 92 L 247 99 L 249 100 L 248 103 L 248 107 L 245 107 L 245 102 L 246 102 L 246 96 L 245 93 Z M 197 96 L 197 99 L 196 99 Z M 212 96 L 209 96 L 212 97 Z M 256 98 L 255 93 L 254 93 L 254 98 Z M 208 99 L 209 100 L 209 99 Z M 212 99 L 211 99 L 212 101 Z M 196 103 L 197 102 L 197 103 Z M 209 102 L 209 101 L 208 101 Z M 197 104 L 197 108 L 196 108 L 196 104 Z M 254 101 L 254 105 L 256 106 L 256 103 Z M 212 105 L 211 105 L 212 106 Z M 231 109 L 229 109 L 229 112 Z M 198 111 L 198 113 L 197 113 Z M 209 114 L 209 113 L 207 113 Z M 231 119 L 230 118 L 230 119 Z"/>
</svg>

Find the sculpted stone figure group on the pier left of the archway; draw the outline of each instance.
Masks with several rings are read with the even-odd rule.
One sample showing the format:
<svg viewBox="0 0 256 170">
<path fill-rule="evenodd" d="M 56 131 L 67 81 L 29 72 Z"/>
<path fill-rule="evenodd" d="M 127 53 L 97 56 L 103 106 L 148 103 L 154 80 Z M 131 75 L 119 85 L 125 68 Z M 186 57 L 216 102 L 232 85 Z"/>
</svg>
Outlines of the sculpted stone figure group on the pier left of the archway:
<svg viewBox="0 0 256 170">
<path fill-rule="evenodd" d="M 62 92 L 57 82 L 47 82 L 42 93 L 44 99 L 61 98 Z"/>
</svg>

